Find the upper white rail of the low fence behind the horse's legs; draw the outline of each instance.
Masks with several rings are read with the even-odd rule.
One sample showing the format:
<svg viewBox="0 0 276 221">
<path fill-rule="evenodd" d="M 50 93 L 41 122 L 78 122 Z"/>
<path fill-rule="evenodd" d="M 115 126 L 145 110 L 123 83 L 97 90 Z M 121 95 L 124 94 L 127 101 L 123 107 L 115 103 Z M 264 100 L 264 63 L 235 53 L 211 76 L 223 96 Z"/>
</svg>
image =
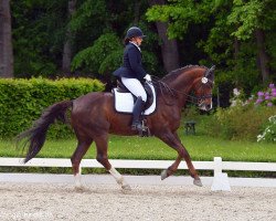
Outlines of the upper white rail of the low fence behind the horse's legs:
<svg viewBox="0 0 276 221">
<path fill-rule="evenodd" d="M 173 160 L 128 160 L 110 159 L 115 168 L 136 169 L 167 169 Z M 213 170 L 214 173 L 223 170 L 248 170 L 248 171 L 276 171 L 276 162 L 243 162 L 222 161 L 221 157 L 214 157 L 214 161 L 193 161 L 198 170 Z M 64 158 L 34 158 L 23 164 L 23 158 L 2 158 L 0 167 L 72 167 L 70 159 Z M 96 159 L 83 159 L 81 168 L 103 168 Z M 184 161 L 179 165 L 179 169 L 188 169 Z"/>
</svg>

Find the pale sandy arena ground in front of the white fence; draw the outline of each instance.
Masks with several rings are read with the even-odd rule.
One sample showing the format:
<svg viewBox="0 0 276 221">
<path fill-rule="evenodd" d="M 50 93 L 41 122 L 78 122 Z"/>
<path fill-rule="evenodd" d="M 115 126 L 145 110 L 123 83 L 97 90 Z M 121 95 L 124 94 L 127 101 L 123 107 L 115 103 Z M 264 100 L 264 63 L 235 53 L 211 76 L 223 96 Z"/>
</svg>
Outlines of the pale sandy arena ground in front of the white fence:
<svg viewBox="0 0 276 221">
<path fill-rule="evenodd" d="M 276 220 L 275 188 L 0 183 L 0 220 Z"/>
</svg>

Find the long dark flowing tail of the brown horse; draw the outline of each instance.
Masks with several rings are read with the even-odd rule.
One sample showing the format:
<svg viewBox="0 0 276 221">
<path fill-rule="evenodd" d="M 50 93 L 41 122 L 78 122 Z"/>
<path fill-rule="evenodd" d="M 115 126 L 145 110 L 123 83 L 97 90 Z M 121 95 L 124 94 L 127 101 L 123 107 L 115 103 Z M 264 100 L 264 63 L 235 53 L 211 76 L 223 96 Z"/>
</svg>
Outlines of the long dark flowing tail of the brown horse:
<svg viewBox="0 0 276 221">
<path fill-rule="evenodd" d="M 43 112 L 41 117 L 33 123 L 33 126 L 30 129 L 17 136 L 18 141 L 26 138 L 26 141 L 23 144 L 23 149 L 29 143 L 29 149 L 24 162 L 28 162 L 39 154 L 45 143 L 46 131 L 50 125 L 53 124 L 55 119 L 65 122 L 66 110 L 71 106 L 73 106 L 72 101 L 63 101 L 53 104 Z"/>
</svg>

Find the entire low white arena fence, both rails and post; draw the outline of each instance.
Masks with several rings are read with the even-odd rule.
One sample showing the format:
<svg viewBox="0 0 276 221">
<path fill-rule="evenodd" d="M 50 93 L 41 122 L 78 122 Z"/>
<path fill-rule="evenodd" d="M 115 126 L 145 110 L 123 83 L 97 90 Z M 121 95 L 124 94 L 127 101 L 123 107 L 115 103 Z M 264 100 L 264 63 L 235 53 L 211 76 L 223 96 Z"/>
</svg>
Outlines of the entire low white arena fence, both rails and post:
<svg viewBox="0 0 276 221">
<path fill-rule="evenodd" d="M 110 159 L 115 168 L 136 168 L 136 169 L 167 169 L 173 160 L 130 160 L 130 159 Z M 214 157 L 213 161 L 193 161 L 198 170 L 213 170 L 214 177 L 204 177 L 203 185 L 211 186 L 212 190 L 230 190 L 230 186 L 242 187 L 276 187 L 276 179 L 264 178 L 227 178 L 225 170 L 240 171 L 276 171 L 276 162 L 244 162 L 244 161 L 223 161 L 221 157 Z M 23 164 L 23 158 L 0 158 L 0 167 L 72 167 L 71 160 L 65 158 L 33 158 Z M 79 166 L 82 168 L 103 168 L 96 159 L 83 159 Z M 179 169 L 188 169 L 184 161 L 179 165 Z M 107 175 L 83 175 L 86 182 L 114 183 L 115 181 Z M 142 178 L 147 177 L 145 181 Z M 159 176 L 126 176 L 134 183 L 158 185 Z M 40 173 L 0 173 L 0 181 L 11 182 L 73 182 L 72 175 L 40 175 Z M 168 180 L 168 181 L 167 181 Z M 189 177 L 171 177 L 160 183 L 184 185 L 192 183 Z"/>
</svg>

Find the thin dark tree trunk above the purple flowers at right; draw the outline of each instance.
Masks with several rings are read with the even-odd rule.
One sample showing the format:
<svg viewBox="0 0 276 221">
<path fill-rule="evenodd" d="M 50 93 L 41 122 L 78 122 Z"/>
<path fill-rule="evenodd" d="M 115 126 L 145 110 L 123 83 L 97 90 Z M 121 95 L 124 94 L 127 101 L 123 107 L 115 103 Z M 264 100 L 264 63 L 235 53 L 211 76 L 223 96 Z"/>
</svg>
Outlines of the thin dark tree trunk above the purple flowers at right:
<svg viewBox="0 0 276 221">
<path fill-rule="evenodd" d="M 256 30 L 256 40 L 257 40 L 259 69 L 262 72 L 263 83 L 266 83 L 269 77 L 269 69 L 267 66 L 268 56 L 265 51 L 265 35 L 263 30 L 261 29 Z"/>
</svg>

